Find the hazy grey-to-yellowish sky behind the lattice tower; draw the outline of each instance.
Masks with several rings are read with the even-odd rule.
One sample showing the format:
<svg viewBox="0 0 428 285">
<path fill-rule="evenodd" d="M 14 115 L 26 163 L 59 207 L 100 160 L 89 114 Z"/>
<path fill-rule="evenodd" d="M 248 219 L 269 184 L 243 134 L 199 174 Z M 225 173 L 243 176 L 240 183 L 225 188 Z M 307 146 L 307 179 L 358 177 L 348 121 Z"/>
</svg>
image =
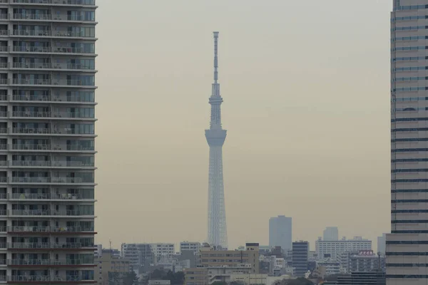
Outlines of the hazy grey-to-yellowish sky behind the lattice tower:
<svg viewBox="0 0 428 285">
<path fill-rule="evenodd" d="M 97 243 L 205 241 L 213 31 L 229 247 L 389 232 L 391 0 L 97 4 Z"/>
</svg>

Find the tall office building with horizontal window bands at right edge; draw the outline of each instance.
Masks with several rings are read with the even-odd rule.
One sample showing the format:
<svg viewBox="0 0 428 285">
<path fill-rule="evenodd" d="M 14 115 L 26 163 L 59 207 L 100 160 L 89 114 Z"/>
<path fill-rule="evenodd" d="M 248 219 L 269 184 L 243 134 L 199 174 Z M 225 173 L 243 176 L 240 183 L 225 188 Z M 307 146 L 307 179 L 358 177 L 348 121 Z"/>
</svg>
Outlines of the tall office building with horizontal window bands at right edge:
<svg viewBox="0 0 428 285">
<path fill-rule="evenodd" d="M 393 1 L 387 284 L 428 284 L 428 1 Z"/>
</svg>

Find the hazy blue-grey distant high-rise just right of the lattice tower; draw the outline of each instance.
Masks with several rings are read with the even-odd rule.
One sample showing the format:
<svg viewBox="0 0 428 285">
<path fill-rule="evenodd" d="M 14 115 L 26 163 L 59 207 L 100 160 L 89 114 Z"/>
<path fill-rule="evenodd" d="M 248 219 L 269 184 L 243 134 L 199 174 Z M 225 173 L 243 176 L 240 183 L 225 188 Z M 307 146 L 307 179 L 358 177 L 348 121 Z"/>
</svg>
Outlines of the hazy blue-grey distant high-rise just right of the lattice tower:
<svg viewBox="0 0 428 285">
<path fill-rule="evenodd" d="M 282 252 L 292 249 L 292 218 L 285 216 L 269 219 L 269 246 L 281 247 Z"/>
</svg>

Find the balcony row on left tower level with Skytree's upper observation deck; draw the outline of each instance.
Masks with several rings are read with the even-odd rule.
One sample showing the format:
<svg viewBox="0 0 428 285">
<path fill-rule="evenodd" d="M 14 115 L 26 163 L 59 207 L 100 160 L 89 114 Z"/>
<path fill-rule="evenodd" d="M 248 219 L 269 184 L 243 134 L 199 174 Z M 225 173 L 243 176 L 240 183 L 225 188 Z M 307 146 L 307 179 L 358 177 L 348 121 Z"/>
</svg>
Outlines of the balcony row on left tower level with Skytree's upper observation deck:
<svg viewBox="0 0 428 285">
<path fill-rule="evenodd" d="M 0 95 L 0 100 L 2 99 Z M 4 100 L 7 100 L 7 95 L 4 95 Z M 12 95 L 12 102 L 34 102 L 34 103 L 63 103 L 63 104 L 73 104 L 73 103 L 84 103 L 96 105 L 95 100 L 89 100 L 88 98 L 84 98 L 83 96 L 34 96 L 34 95 Z"/>
</svg>

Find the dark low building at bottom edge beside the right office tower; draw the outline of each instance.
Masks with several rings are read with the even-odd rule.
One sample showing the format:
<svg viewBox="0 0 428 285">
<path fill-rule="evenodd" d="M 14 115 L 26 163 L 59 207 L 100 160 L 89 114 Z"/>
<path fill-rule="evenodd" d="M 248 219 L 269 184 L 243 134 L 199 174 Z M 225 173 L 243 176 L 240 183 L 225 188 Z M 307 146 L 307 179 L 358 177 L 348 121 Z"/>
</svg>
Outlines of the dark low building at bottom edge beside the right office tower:
<svg viewBox="0 0 428 285">
<path fill-rule="evenodd" d="M 327 281 L 322 285 L 385 285 L 385 273 L 382 271 L 352 272 L 350 276 L 338 276 L 337 281 Z M 409 284 L 407 284 L 409 285 Z"/>
</svg>

